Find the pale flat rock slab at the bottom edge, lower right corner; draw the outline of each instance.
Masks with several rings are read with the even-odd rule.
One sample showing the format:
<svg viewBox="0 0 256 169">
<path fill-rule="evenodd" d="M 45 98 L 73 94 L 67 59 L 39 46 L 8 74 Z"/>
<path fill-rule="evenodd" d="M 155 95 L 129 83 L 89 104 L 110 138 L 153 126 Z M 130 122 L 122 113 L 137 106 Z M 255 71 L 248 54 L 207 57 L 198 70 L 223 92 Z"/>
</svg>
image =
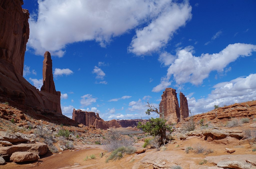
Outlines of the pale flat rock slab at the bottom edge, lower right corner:
<svg viewBox="0 0 256 169">
<path fill-rule="evenodd" d="M 250 163 L 242 162 L 242 161 L 232 161 L 232 160 L 219 161 L 217 166 L 222 168 L 235 168 L 235 169 L 251 169 L 252 168 L 252 165 Z"/>
</svg>

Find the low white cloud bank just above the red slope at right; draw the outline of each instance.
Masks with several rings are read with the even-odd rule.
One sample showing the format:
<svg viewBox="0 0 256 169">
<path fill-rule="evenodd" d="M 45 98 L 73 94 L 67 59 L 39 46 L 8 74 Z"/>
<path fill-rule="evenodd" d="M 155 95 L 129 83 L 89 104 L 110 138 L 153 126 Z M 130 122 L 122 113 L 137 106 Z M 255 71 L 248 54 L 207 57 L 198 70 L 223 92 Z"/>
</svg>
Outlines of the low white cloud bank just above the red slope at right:
<svg viewBox="0 0 256 169">
<path fill-rule="evenodd" d="M 234 103 L 256 100 L 256 74 L 239 77 L 227 82 L 216 84 L 207 98 L 188 98 L 188 107 L 194 113 L 207 112 L 214 105 L 230 105 Z M 193 93 L 192 93 L 193 94 Z M 191 94 L 189 94 L 192 96 Z"/>
</svg>

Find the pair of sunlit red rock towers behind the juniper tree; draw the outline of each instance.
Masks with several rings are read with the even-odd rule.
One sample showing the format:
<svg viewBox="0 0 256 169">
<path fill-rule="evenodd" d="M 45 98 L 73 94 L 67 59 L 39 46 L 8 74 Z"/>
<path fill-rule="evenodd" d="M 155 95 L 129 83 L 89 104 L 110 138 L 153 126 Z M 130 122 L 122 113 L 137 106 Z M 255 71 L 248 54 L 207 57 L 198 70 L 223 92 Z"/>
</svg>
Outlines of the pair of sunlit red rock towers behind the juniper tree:
<svg viewBox="0 0 256 169">
<path fill-rule="evenodd" d="M 162 108 L 163 107 L 163 108 Z M 188 101 L 183 93 L 180 92 L 180 107 L 176 90 L 166 88 L 162 94 L 162 100 L 159 104 L 159 112 L 164 111 L 164 119 L 168 124 L 178 123 L 180 119 L 188 117 Z M 160 117 L 162 115 L 160 114 Z"/>
</svg>

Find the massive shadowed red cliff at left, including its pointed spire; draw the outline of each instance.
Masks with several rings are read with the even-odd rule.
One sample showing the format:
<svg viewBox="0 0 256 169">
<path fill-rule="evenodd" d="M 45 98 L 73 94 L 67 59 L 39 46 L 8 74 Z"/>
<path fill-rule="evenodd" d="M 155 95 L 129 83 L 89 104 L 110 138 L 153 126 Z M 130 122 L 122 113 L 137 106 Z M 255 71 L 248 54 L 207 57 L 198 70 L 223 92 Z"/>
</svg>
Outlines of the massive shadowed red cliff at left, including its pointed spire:
<svg viewBox="0 0 256 169">
<path fill-rule="evenodd" d="M 23 78 L 28 10 L 22 9 L 21 0 L 1 1 L 0 5 L 0 101 L 23 110 L 61 115 L 60 92 L 55 89 L 49 52 L 45 54 L 41 91 Z"/>
</svg>

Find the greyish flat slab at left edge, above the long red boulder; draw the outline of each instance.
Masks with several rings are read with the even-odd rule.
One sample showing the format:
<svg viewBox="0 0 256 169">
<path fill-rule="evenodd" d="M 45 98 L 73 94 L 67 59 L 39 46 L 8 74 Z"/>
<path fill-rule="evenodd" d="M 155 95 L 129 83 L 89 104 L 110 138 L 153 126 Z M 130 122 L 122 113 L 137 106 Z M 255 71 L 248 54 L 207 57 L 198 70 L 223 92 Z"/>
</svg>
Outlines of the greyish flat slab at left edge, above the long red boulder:
<svg viewBox="0 0 256 169">
<path fill-rule="evenodd" d="M 9 141 L 11 143 L 17 143 L 17 142 L 30 142 L 29 138 L 20 132 L 17 133 L 7 133 L 0 131 L 0 141 Z"/>
</svg>

